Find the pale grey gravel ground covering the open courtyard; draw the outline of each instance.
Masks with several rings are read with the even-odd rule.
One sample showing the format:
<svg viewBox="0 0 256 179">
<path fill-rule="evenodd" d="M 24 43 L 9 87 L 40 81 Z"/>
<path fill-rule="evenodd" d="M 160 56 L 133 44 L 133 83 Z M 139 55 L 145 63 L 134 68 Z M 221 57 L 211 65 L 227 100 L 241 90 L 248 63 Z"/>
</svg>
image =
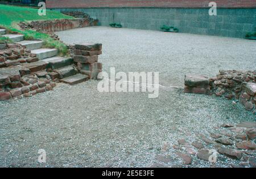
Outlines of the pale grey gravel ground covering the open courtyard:
<svg viewBox="0 0 256 179">
<path fill-rule="evenodd" d="M 254 41 L 106 27 L 57 35 L 69 43 L 102 42 L 105 71 L 159 71 L 164 87 L 148 99 L 143 92 L 100 93 L 91 80 L 0 101 L 0 167 L 210 167 L 196 156 L 184 165 L 172 146 L 181 138 L 191 144 L 200 134 L 209 137 L 222 123 L 255 121 L 239 104 L 170 87 L 182 87 L 186 73 L 255 67 Z M 41 148 L 46 164 L 38 163 Z M 216 167 L 230 164 L 238 161 L 221 156 Z"/>
</svg>

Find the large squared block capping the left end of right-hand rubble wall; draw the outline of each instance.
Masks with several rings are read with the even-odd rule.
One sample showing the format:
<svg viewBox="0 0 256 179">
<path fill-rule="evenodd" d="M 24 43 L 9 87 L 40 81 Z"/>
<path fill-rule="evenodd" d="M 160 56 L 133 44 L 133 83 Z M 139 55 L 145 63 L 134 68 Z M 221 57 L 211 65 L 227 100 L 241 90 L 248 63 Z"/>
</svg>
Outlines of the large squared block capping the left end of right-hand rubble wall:
<svg viewBox="0 0 256 179">
<path fill-rule="evenodd" d="M 185 75 L 185 86 L 205 87 L 209 85 L 209 79 L 199 75 Z"/>
</svg>

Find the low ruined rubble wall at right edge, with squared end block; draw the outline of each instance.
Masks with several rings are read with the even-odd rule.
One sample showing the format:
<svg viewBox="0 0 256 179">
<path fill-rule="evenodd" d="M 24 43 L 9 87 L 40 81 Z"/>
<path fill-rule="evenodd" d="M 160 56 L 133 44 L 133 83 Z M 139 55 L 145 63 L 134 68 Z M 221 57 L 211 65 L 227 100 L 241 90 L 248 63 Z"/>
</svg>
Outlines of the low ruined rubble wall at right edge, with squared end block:
<svg viewBox="0 0 256 179">
<path fill-rule="evenodd" d="M 214 78 L 185 75 L 184 92 L 224 96 L 256 114 L 256 71 L 220 70 Z"/>
</svg>

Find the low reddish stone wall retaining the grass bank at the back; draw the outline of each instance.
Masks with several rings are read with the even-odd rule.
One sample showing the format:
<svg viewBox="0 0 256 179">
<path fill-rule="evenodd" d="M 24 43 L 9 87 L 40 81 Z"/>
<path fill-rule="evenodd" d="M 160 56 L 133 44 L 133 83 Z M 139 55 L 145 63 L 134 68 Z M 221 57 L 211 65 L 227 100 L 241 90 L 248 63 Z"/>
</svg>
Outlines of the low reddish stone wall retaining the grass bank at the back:
<svg viewBox="0 0 256 179">
<path fill-rule="evenodd" d="M 56 32 L 65 31 L 73 28 L 89 27 L 89 19 L 56 19 L 56 20 L 42 20 L 42 21 L 32 21 L 29 23 L 20 22 L 20 28 L 35 29 L 39 32 Z"/>
</svg>

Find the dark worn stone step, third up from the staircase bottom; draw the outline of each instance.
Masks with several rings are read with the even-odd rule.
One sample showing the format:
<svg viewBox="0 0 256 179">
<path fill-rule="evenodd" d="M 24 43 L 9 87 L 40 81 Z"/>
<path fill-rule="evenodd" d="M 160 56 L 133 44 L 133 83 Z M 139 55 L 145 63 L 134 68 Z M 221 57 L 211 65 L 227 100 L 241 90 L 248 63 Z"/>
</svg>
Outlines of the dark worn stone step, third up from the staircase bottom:
<svg viewBox="0 0 256 179">
<path fill-rule="evenodd" d="M 42 61 L 46 62 L 47 68 L 51 68 L 52 70 L 59 69 L 64 66 L 71 65 L 73 63 L 72 58 L 65 58 L 65 57 L 51 57 L 42 59 Z"/>
</svg>

